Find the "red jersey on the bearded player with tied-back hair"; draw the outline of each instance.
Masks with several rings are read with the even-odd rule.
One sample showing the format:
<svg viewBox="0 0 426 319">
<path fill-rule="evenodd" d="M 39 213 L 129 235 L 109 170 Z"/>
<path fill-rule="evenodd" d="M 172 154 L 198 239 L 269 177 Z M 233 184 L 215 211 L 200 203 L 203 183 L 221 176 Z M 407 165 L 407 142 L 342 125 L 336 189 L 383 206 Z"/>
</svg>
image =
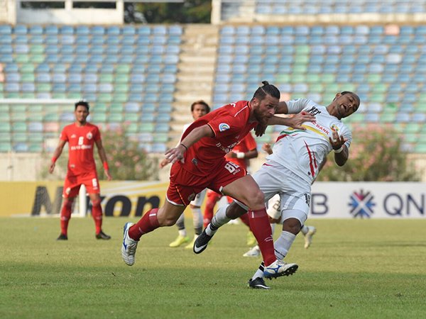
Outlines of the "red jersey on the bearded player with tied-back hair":
<svg viewBox="0 0 426 319">
<path fill-rule="evenodd" d="M 225 162 L 224 156 L 257 125 L 249 123 L 251 106 L 249 101 L 230 103 L 207 113 L 192 123 L 182 135 L 183 140 L 192 130 L 209 125 L 214 132 L 213 138 L 202 138 L 185 152 L 185 164 L 182 168 L 194 175 L 205 177 L 209 172 Z"/>
</svg>

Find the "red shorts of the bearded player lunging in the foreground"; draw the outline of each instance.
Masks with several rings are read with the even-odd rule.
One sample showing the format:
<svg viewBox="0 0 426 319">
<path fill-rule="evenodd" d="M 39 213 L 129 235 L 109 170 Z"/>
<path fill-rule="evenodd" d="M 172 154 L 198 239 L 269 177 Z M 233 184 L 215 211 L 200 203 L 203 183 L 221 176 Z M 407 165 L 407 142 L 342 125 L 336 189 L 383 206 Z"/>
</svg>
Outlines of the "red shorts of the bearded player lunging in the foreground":
<svg viewBox="0 0 426 319">
<path fill-rule="evenodd" d="M 246 176 L 246 170 L 237 164 L 224 161 L 214 171 L 206 172 L 204 177 L 188 172 L 180 163 L 173 164 L 170 170 L 170 185 L 167 190 L 167 201 L 174 205 L 188 206 L 203 189 L 212 189 L 222 193 L 224 186 Z"/>
</svg>

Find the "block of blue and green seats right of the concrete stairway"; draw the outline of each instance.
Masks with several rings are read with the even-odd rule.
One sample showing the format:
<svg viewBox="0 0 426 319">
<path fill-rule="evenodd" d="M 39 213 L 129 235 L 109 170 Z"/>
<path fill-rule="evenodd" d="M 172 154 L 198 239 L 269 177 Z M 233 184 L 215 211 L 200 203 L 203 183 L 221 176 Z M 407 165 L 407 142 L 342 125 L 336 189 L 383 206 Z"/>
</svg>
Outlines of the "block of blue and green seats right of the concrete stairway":
<svg viewBox="0 0 426 319">
<path fill-rule="evenodd" d="M 363 103 L 346 123 L 395 121 L 405 150 L 422 152 L 422 135 L 408 128 L 425 118 L 425 35 L 425 26 L 223 26 L 214 106 L 244 98 L 263 79 L 285 99 L 329 103 L 356 91 Z"/>
</svg>

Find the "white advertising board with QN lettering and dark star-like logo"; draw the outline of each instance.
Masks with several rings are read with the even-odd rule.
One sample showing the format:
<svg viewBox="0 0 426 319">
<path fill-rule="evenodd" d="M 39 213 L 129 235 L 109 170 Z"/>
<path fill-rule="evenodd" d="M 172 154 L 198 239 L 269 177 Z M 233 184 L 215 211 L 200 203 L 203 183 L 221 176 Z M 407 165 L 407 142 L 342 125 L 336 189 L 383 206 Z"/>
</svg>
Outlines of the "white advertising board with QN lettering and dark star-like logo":
<svg viewBox="0 0 426 319">
<path fill-rule="evenodd" d="M 426 218 L 426 184 L 315 182 L 309 218 Z"/>
</svg>

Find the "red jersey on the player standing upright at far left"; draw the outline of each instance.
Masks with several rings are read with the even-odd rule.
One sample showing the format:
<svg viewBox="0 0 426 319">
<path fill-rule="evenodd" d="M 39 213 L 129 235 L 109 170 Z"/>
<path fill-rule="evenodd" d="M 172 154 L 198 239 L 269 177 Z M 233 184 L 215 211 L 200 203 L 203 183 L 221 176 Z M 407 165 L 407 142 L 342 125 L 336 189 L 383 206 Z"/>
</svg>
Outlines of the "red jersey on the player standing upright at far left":
<svg viewBox="0 0 426 319">
<path fill-rule="evenodd" d="M 65 126 L 60 133 L 60 140 L 68 142 L 68 175 L 80 175 L 95 172 L 93 148 L 94 142 L 101 139 L 99 128 L 86 123 L 77 126 L 75 123 Z"/>
</svg>

